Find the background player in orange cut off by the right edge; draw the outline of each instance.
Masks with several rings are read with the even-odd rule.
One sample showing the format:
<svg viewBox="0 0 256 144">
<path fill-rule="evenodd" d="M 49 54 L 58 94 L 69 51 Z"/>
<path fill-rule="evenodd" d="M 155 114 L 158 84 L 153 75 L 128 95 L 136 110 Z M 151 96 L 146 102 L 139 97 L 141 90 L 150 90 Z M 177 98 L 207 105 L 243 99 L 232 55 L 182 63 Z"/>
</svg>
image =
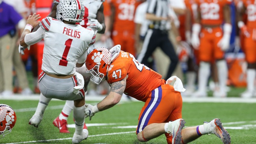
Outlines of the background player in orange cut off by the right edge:
<svg viewBox="0 0 256 144">
<path fill-rule="evenodd" d="M 247 90 L 241 97 L 251 98 L 255 92 L 254 80 L 256 75 L 256 2 L 255 0 L 243 0 L 243 7 L 237 15 L 238 27 L 244 38 L 244 53 L 248 63 L 247 67 Z M 242 21 L 242 17 L 247 10 L 247 24 Z"/>
</svg>

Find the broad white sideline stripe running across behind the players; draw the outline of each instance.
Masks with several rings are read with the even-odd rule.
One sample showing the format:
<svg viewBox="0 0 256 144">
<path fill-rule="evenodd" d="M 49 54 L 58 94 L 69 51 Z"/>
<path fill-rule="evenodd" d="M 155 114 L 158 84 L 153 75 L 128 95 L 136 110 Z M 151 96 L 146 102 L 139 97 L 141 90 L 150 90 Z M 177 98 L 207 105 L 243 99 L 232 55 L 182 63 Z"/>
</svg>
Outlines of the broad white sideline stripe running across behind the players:
<svg viewBox="0 0 256 144">
<path fill-rule="evenodd" d="M 37 100 L 39 101 L 39 94 L 33 95 L 21 95 L 15 94 L 9 97 L 0 96 L 1 100 Z M 85 101 L 101 101 L 105 98 L 106 95 L 86 95 Z M 207 98 L 190 98 L 190 97 L 183 97 L 183 102 L 225 102 L 225 103 L 256 103 L 256 98 L 236 98 L 236 97 L 228 97 L 228 98 L 214 98 L 214 97 L 207 97 Z M 52 99 L 52 101 L 61 101 L 58 99 Z M 122 97 L 121 101 L 128 102 L 125 97 Z M 138 100 L 132 98 L 133 102 L 139 102 Z"/>
</svg>

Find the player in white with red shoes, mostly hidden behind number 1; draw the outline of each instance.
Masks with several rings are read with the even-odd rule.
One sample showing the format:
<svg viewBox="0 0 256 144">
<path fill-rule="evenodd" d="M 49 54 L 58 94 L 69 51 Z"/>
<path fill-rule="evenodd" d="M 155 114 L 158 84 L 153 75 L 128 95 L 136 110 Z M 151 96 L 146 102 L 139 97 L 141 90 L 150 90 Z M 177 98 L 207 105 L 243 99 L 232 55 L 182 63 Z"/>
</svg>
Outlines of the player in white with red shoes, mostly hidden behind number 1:
<svg viewBox="0 0 256 144">
<path fill-rule="evenodd" d="M 56 17 L 56 10 L 57 5 L 62 0 L 54 0 L 52 11 L 49 16 L 55 18 Z M 95 33 L 104 33 L 106 26 L 104 23 L 104 14 L 103 14 L 103 2 L 105 0 L 82 0 L 85 12 L 83 16 L 83 20 L 79 23 L 82 27 L 92 29 Z M 94 49 L 94 46 L 89 47 L 89 51 Z M 84 78 L 84 89 L 85 93 L 87 93 L 87 86 L 90 82 L 90 77 L 85 76 L 85 66 L 81 68 L 76 68 L 76 71 L 81 73 Z M 88 74 L 87 74 L 88 75 Z M 59 128 L 60 133 L 70 133 L 67 127 L 67 119 L 70 115 L 71 111 L 73 110 L 73 101 L 66 101 L 61 113 L 59 116 L 53 121 L 54 126 Z M 87 129 L 86 125 L 84 124 L 84 129 Z"/>
</svg>

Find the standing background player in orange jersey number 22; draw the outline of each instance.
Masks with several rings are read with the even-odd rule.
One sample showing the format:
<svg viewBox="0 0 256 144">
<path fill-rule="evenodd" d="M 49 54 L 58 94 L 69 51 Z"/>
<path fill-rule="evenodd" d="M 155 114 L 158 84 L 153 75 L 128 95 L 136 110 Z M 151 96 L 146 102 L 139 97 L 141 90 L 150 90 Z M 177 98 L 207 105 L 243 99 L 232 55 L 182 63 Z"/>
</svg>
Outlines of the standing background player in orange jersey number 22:
<svg viewBox="0 0 256 144">
<path fill-rule="evenodd" d="M 226 97 L 227 64 L 224 53 L 229 48 L 232 30 L 229 8 L 232 0 L 196 0 L 196 2 L 198 16 L 192 26 L 191 42 L 194 48 L 199 49 L 200 64 L 198 91 L 193 96 L 207 96 L 207 79 L 210 75 L 210 63 L 214 58 L 218 69 L 220 89 L 215 90 L 213 96 Z M 222 23 L 224 23 L 223 29 L 221 28 Z"/>
</svg>

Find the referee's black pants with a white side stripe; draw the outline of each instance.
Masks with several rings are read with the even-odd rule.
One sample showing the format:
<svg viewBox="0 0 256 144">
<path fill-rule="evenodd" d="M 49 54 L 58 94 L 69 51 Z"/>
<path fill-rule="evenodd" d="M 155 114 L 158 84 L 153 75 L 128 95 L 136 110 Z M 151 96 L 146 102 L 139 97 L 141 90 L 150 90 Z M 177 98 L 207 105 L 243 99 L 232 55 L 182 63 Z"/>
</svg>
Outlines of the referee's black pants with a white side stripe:
<svg viewBox="0 0 256 144">
<path fill-rule="evenodd" d="M 145 36 L 142 49 L 137 57 L 139 63 L 148 65 L 147 59 L 155 51 L 157 47 L 160 47 L 162 51 L 170 58 L 171 64 L 169 66 L 166 78 L 170 78 L 174 69 L 178 63 L 178 57 L 174 51 L 173 44 L 169 40 L 168 31 L 158 29 L 148 29 Z M 165 62 L 162 62 L 165 63 Z"/>
</svg>

